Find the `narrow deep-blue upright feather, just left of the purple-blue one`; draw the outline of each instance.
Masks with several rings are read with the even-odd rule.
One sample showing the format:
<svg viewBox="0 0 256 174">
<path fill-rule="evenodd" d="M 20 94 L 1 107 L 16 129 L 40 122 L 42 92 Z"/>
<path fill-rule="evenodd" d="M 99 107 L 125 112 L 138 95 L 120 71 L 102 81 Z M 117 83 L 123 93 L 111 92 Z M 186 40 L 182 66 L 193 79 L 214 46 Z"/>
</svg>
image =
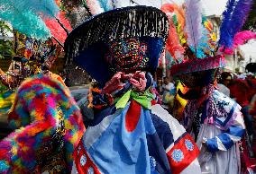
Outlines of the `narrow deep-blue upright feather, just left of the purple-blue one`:
<svg viewBox="0 0 256 174">
<path fill-rule="evenodd" d="M 226 4 L 226 9 L 223 13 L 223 20 L 220 27 L 220 39 L 219 39 L 219 45 L 224 46 L 226 48 L 229 48 L 232 46 L 232 35 L 231 35 L 231 17 L 233 13 L 235 0 L 228 0 Z"/>
</svg>

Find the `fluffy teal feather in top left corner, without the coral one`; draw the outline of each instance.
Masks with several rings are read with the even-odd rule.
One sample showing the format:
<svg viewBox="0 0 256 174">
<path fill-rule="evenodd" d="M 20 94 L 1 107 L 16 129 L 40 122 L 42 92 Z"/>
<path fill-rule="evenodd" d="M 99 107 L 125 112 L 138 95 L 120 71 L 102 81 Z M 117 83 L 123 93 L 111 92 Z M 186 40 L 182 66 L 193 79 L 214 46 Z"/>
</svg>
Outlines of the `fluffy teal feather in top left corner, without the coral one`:
<svg viewBox="0 0 256 174">
<path fill-rule="evenodd" d="M 37 39 L 50 37 L 50 30 L 46 27 L 41 17 L 31 10 L 17 9 L 9 0 L 2 0 L 0 4 L 0 18 L 10 22 L 15 30 Z"/>
</svg>

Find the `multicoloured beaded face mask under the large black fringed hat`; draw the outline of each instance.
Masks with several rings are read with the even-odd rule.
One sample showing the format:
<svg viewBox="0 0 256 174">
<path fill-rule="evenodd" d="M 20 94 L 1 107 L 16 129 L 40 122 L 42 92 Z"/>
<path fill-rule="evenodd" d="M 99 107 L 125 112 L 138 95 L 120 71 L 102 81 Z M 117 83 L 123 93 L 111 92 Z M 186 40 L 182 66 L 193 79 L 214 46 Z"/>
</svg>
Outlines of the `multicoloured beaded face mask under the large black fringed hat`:
<svg viewBox="0 0 256 174">
<path fill-rule="evenodd" d="M 147 45 L 139 39 L 121 39 L 109 44 L 105 59 L 114 72 L 128 73 L 146 67 L 149 62 L 146 52 Z"/>
</svg>

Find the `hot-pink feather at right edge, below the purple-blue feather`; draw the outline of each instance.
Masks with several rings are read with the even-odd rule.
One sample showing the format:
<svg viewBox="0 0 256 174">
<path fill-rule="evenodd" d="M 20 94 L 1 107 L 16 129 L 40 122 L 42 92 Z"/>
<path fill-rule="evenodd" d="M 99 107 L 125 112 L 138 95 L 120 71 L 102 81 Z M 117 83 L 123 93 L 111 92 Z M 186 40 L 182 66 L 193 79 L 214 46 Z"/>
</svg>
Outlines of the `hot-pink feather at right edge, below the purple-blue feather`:
<svg viewBox="0 0 256 174">
<path fill-rule="evenodd" d="M 233 49 L 244 44 L 249 39 L 256 39 L 256 33 L 251 30 L 243 30 L 235 34 L 232 48 L 221 48 L 221 50 L 224 51 L 226 55 L 233 55 Z"/>
</svg>

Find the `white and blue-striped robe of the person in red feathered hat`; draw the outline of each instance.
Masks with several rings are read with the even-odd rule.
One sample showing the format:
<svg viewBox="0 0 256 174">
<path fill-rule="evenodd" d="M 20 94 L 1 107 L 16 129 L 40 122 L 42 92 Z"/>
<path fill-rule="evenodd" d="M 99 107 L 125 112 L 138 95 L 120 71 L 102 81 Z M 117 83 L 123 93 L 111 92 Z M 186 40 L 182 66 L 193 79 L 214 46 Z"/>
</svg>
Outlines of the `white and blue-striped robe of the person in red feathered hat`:
<svg viewBox="0 0 256 174">
<path fill-rule="evenodd" d="M 199 109 L 197 100 L 189 100 L 185 110 L 185 126 L 197 138 L 202 171 L 240 173 L 238 142 L 244 134 L 241 107 L 220 91 L 214 90 Z M 196 113 L 195 113 L 196 111 Z"/>
</svg>

